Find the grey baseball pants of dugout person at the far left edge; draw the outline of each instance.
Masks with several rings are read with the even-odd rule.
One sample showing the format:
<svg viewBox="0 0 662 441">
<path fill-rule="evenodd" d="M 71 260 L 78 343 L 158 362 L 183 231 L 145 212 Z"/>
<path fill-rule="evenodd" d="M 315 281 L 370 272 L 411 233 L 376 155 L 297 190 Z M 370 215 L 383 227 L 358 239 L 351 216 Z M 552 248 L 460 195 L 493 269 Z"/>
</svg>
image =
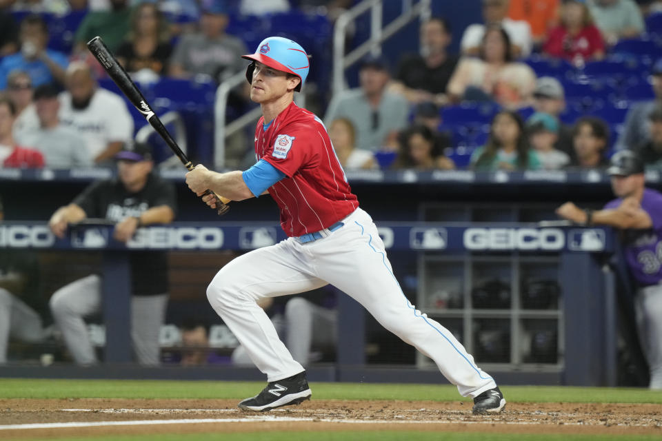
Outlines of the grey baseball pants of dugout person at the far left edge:
<svg viewBox="0 0 662 441">
<path fill-rule="evenodd" d="M 23 342 L 41 341 L 41 317 L 20 298 L 0 288 L 0 365 L 7 362 L 10 336 Z"/>
</svg>

